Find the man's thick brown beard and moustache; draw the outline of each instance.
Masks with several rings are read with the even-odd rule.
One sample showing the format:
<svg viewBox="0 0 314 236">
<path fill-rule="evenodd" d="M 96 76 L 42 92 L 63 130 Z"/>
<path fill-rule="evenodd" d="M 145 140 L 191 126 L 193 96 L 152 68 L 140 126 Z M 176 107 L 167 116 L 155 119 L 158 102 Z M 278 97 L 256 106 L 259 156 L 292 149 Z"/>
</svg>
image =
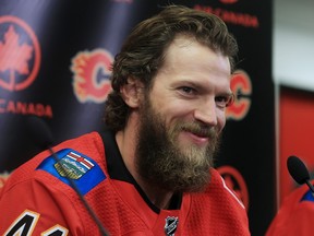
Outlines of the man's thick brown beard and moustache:
<svg viewBox="0 0 314 236">
<path fill-rule="evenodd" d="M 140 175 L 156 187 L 176 192 L 202 191 L 210 181 L 209 168 L 220 143 L 215 128 L 197 121 L 166 127 L 162 117 L 155 113 L 149 102 L 141 114 L 136 145 L 136 167 Z M 208 137 L 206 146 L 180 148 L 178 135 L 189 131 Z"/>
</svg>

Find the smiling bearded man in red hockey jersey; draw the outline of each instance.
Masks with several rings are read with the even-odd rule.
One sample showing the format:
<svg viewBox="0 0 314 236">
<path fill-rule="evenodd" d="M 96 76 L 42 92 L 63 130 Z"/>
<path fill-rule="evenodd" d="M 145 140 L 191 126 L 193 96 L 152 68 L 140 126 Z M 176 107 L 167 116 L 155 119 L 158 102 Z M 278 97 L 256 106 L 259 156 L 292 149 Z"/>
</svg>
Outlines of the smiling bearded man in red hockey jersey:
<svg viewBox="0 0 314 236">
<path fill-rule="evenodd" d="M 237 52 L 219 17 L 186 7 L 136 25 L 112 64 L 107 130 L 16 169 L 2 189 L 0 234 L 250 235 L 214 168 Z"/>
</svg>

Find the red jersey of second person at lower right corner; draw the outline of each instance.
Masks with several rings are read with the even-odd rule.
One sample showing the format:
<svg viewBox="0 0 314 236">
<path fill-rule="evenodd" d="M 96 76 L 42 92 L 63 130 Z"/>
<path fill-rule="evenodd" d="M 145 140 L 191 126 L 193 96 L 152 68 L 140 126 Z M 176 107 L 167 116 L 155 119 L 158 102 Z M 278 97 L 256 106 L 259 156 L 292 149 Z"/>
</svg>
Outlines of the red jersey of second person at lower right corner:
<svg viewBox="0 0 314 236">
<path fill-rule="evenodd" d="M 268 227 L 266 236 L 309 236 L 313 235 L 314 202 L 302 200 L 309 187 L 292 191 L 285 200 Z M 312 197 L 313 198 L 313 197 Z"/>
</svg>

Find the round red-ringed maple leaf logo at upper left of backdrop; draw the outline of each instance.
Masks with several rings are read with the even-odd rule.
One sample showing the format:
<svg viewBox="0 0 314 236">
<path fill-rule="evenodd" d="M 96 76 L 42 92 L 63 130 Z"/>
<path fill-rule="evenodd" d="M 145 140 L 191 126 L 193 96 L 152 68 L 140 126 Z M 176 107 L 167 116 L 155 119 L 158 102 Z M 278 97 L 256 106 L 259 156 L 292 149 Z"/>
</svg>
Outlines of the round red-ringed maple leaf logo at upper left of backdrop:
<svg viewBox="0 0 314 236">
<path fill-rule="evenodd" d="M 0 87 L 21 91 L 37 76 L 40 48 L 33 30 L 21 19 L 0 17 Z"/>
</svg>

